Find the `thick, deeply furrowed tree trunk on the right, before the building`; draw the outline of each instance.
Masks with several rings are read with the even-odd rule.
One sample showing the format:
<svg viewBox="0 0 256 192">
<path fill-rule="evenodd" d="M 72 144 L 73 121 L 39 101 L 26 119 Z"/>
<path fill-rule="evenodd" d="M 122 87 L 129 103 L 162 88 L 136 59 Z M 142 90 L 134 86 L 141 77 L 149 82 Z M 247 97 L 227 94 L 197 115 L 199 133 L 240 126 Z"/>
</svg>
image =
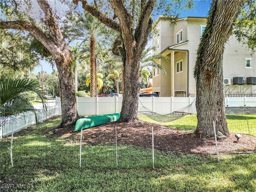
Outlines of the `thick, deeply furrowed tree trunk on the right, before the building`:
<svg viewBox="0 0 256 192">
<path fill-rule="evenodd" d="M 216 131 L 228 135 L 223 94 L 222 56 L 224 44 L 230 36 L 232 24 L 242 1 L 214 0 L 207 19 L 207 26 L 197 51 L 194 76 L 196 78 L 196 132 L 206 137 Z"/>
</svg>

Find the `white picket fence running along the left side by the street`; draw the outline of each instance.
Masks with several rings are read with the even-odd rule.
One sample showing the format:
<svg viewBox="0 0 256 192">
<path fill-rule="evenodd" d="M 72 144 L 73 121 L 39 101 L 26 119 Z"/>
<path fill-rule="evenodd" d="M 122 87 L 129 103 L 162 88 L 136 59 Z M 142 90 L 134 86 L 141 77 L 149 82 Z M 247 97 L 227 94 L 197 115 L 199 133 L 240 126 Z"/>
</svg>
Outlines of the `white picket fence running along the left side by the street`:
<svg viewBox="0 0 256 192">
<path fill-rule="evenodd" d="M 37 113 L 39 122 L 43 122 L 46 119 L 56 115 L 56 106 L 49 106 L 46 110 L 39 110 Z M 11 116 L 4 126 L 0 127 L 0 138 L 8 136 L 12 132 L 25 129 L 28 126 L 36 124 L 36 117 L 33 112 L 25 112 L 17 116 Z"/>
</svg>

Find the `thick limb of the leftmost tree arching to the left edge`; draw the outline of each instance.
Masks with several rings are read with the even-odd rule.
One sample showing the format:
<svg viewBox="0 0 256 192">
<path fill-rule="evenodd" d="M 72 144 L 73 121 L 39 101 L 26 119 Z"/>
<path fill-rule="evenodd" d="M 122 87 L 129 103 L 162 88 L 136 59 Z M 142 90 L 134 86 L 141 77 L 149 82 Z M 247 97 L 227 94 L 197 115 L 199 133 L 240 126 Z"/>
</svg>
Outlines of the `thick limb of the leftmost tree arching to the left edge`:
<svg viewBox="0 0 256 192">
<path fill-rule="evenodd" d="M 34 24 L 26 21 L 1 21 L 1 29 L 18 29 L 30 32 L 38 41 L 40 41 L 51 54 L 54 53 L 53 47 L 56 48 L 54 42 L 52 42 L 40 29 L 38 29 Z"/>
</svg>

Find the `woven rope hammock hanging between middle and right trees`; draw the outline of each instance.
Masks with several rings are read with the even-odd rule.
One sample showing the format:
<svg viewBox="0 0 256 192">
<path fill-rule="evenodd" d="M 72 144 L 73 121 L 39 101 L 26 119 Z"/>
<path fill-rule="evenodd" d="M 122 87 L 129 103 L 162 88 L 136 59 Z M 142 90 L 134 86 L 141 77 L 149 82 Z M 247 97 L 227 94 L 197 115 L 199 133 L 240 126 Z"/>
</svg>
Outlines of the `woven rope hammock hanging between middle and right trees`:
<svg viewBox="0 0 256 192">
<path fill-rule="evenodd" d="M 142 111 L 139 111 L 139 113 L 142 113 L 142 114 L 146 115 L 148 118 L 158 121 L 158 122 L 171 122 L 171 121 L 177 120 L 179 118 L 182 118 L 185 115 L 191 115 L 193 113 L 192 107 L 191 107 L 193 102 L 188 106 L 185 106 L 179 110 L 176 110 L 176 111 L 166 114 L 166 115 L 160 115 L 156 112 L 152 112 L 150 109 L 144 107 L 143 105 L 142 105 L 143 109 L 142 109 Z"/>
</svg>

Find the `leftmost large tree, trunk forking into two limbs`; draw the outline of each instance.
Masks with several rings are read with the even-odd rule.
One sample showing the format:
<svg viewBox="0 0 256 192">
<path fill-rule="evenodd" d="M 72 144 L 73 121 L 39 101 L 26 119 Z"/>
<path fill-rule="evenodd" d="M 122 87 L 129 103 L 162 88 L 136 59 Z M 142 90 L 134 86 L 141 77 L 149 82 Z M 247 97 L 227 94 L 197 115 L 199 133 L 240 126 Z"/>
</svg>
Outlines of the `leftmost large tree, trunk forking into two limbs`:
<svg viewBox="0 0 256 192">
<path fill-rule="evenodd" d="M 76 120 L 79 118 L 71 73 L 73 56 L 72 52 L 68 49 L 62 32 L 58 26 L 58 22 L 56 21 L 56 17 L 47 0 L 37 0 L 37 2 L 45 14 L 43 21 L 51 38 L 42 31 L 42 28 L 37 27 L 32 22 L 29 22 L 29 20 L 1 21 L 0 27 L 1 29 L 17 29 L 29 32 L 38 41 L 40 41 L 54 57 L 60 82 L 60 98 L 62 107 L 62 122 L 60 127 L 65 127 L 75 124 Z M 13 3 L 15 4 L 15 2 Z"/>
</svg>

